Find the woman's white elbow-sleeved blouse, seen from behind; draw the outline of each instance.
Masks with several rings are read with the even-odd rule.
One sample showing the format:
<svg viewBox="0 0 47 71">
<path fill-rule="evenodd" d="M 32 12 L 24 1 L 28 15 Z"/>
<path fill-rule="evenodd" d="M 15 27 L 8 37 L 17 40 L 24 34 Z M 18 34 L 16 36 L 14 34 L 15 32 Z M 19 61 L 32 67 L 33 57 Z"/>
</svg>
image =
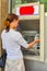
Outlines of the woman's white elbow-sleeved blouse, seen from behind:
<svg viewBox="0 0 47 71">
<path fill-rule="evenodd" d="M 27 48 L 27 42 L 22 37 L 20 32 L 10 29 L 8 33 L 5 29 L 1 34 L 2 48 L 7 50 L 7 58 L 9 59 L 22 59 L 23 55 L 21 46 Z"/>
</svg>

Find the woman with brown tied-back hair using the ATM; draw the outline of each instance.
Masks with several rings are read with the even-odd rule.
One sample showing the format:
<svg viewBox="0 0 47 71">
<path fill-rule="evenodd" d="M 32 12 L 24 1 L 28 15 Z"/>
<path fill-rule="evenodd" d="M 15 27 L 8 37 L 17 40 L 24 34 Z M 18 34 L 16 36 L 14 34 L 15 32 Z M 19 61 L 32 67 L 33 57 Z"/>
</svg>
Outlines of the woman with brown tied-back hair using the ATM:
<svg viewBox="0 0 47 71">
<path fill-rule="evenodd" d="M 9 14 L 3 24 L 5 29 L 1 34 L 2 48 L 7 50 L 4 71 L 25 71 L 21 46 L 31 48 L 34 44 L 39 43 L 39 39 L 27 44 L 21 33 L 15 31 L 19 25 L 19 16 L 16 14 Z"/>
</svg>

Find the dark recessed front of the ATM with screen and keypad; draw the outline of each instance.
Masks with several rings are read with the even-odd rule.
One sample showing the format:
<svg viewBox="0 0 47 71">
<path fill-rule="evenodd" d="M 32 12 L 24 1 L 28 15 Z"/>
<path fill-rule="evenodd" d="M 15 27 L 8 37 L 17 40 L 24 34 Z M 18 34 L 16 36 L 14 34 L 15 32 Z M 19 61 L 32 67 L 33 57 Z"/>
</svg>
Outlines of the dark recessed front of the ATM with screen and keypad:
<svg viewBox="0 0 47 71">
<path fill-rule="evenodd" d="M 39 33 L 39 20 L 22 20 L 20 21 L 20 31 L 22 31 L 23 37 L 27 43 L 38 38 Z M 38 47 L 38 48 L 37 48 Z M 23 49 L 24 55 L 39 56 L 39 46 L 36 44 L 31 49 Z"/>
</svg>

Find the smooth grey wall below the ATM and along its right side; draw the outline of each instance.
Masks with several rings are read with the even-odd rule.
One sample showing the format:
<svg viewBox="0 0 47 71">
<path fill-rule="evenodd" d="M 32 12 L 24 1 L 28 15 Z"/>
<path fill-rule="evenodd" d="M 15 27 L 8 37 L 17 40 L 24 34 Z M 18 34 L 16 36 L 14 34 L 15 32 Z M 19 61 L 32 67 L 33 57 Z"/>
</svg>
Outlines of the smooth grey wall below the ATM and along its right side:
<svg viewBox="0 0 47 71">
<path fill-rule="evenodd" d="M 45 17 L 45 60 L 47 59 L 47 16 Z M 26 71 L 47 71 L 47 62 L 25 60 Z"/>
</svg>

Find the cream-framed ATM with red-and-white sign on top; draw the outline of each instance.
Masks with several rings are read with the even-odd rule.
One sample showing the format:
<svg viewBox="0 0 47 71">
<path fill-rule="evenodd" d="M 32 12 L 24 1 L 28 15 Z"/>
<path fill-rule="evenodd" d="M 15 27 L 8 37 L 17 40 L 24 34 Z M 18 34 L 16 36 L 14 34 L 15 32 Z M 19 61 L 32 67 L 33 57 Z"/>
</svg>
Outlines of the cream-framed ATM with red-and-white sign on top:
<svg viewBox="0 0 47 71">
<path fill-rule="evenodd" d="M 22 48 L 24 59 L 44 61 L 44 4 L 40 4 L 39 2 L 16 4 L 12 12 L 20 16 L 19 31 L 27 43 L 31 43 L 36 38 L 40 39 L 40 43 L 35 44 L 32 48 Z"/>
</svg>

